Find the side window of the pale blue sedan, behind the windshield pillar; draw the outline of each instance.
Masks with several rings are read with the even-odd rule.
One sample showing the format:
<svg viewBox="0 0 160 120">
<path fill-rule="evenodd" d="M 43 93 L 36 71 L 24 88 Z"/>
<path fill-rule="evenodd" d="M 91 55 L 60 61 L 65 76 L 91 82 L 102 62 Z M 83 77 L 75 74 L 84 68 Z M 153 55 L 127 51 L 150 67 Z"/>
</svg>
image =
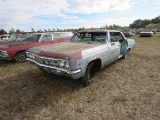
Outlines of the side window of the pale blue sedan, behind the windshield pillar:
<svg viewBox="0 0 160 120">
<path fill-rule="evenodd" d="M 118 42 L 124 39 L 120 32 L 110 32 L 110 38 L 111 42 Z"/>
</svg>

